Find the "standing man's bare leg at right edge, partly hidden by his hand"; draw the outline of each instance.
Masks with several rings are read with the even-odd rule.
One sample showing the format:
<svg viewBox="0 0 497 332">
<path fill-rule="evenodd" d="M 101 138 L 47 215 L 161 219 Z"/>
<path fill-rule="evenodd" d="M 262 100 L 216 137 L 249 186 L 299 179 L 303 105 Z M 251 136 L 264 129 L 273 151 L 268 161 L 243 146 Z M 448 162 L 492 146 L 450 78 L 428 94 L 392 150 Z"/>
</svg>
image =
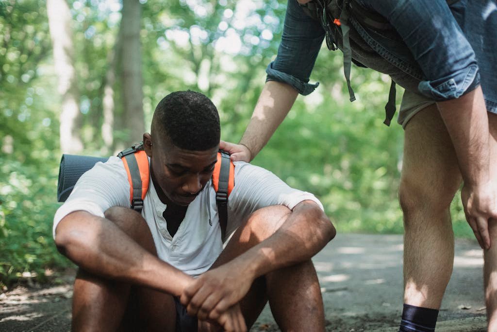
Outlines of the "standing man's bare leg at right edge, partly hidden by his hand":
<svg viewBox="0 0 497 332">
<path fill-rule="evenodd" d="M 489 113 L 491 155 L 491 172 L 497 172 L 497 115 Z M 494 184 L 497 186 L 497 183 Z M 485 302 L 487 304 L 488 331 L 497 331 L 497 221 L 489 222 L 491 248 L 484 250 L 485 266 Z"/>
</svg>

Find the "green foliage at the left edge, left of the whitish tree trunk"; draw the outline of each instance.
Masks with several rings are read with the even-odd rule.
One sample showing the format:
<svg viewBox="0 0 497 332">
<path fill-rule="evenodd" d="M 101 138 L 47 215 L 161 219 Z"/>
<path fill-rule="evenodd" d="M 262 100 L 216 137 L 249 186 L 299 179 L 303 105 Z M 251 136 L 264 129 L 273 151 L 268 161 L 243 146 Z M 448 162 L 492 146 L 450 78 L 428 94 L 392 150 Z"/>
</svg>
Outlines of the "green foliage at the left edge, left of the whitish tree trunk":
<svg viewBox="0 0 497 332">
<path fill-rule="evenodd" d="M 58 114 L 45 4 L 0 2 L 0 286 L 67 265 L 53 245 Z"/>
</svg>

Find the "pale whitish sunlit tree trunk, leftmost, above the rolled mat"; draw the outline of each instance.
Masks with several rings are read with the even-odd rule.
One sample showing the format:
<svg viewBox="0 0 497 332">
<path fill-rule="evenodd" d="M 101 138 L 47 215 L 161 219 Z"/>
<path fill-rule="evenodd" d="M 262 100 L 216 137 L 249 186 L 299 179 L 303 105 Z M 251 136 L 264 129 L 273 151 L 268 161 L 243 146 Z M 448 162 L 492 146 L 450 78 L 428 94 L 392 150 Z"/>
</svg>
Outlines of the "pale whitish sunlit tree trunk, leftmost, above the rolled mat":
<svg viewBox="0 0 497 332">
<path fill-rule="evenodd" d="M 65 0 L 47 0 L 47 15 L 54 49 L 54 66 L 59 76 L 59 94 L 62 99 L 61 150 L 62 153 L 79 153 L 83 150 L 80 134 L 82 114 L 78 105 L 71 11 Z"/>
</svg>

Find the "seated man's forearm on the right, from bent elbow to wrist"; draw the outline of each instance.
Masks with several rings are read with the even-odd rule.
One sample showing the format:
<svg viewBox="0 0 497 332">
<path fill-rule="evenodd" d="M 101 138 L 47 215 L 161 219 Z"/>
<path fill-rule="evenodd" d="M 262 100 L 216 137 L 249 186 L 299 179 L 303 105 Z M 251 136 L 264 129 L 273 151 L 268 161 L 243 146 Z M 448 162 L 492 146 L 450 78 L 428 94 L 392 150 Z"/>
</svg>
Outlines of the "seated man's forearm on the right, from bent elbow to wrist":
<svg viewBox="0 0 497 332">
<path fill-rule="evenodd" d="M 335 236 L 331 221 L 314 202 L 298 204 L 270 237 L 234 259 L 253 278 L 311 259 Z"/>
</svg>

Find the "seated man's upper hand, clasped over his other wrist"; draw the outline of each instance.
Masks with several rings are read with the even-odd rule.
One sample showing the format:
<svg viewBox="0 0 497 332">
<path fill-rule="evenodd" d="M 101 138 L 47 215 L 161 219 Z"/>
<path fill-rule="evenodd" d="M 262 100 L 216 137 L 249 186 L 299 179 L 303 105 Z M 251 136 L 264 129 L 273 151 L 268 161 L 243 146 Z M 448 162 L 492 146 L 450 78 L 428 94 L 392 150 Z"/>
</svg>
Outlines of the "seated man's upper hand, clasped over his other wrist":
<svg viewBox="0 0 497 332">
<path fill-rule="evenodd" d="M 189 315 L 219 322 L 247 294 L 253 279 L 243 266 L 233 266 L 230 262 L 195 279 L 184 289 L 180 300 Z"/>
</svg>

